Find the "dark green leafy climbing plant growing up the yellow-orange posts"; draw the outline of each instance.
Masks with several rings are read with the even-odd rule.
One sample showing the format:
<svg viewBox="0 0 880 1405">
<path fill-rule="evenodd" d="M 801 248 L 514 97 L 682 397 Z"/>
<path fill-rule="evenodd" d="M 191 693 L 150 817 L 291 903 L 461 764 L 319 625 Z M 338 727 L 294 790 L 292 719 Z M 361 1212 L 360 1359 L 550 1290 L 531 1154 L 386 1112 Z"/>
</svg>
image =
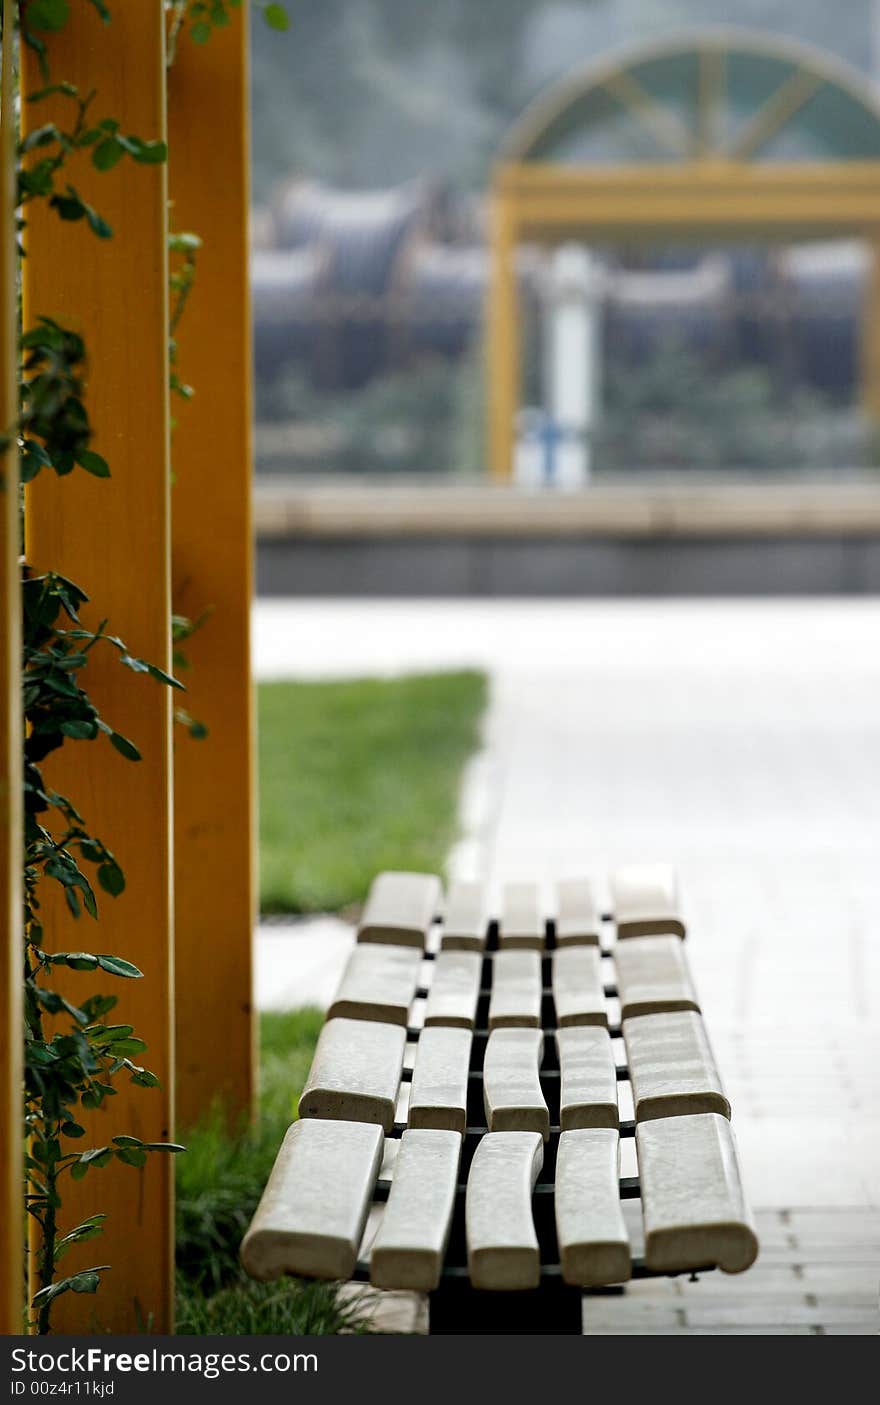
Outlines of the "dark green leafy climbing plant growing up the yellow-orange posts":
<svg viewBox="0 0 880 1405">
<path fill-rule="evenodd" d="M 52 35 L 62 31 L 76 4 L 89 4 L 104 24 L 111 22 L 112 4 L 105 0 L 20 0 L 18 34 L 37 55 L 44 87 L 28 96 L 28 104 L 53 98 L 53 112 L 66 111 L 42 125 L 28 124 L 18 152 L 20 230 L 25 228 L 28 205 L 42 200 L 63 222 L 84 221 L 98 239 L 111 239 L 112 229 L 75 184 L 72 167 L 87 157 L 103 173 L 129 159 L 142 164 L 164 162 L 163 142 L 125 132 L 114 117 L 97 115 L 100 94 L 82 91 L 72 83 L 55 81 L 51 72 Z M 169 55 L 188 34 L 202 44 L 214 30 L 229 22 L 229 11 L 240 0 L 164 0 L 169 18 Z M 287 28 L 283 6 L 260 4 L 266 21 Z M 13 37 L 3 34 L 3 42 Z M 193 287 L 200 240 L 174 235 L 172 254 L 179 256 L 172 275 L 172 344 L 169 368 L 172 389 L 188 398 L 190 386 L 177 371 L 174 332 Z M 79 333 L 63 326 L 45 309 L 22 330 L 20 358 L 20 419 L 17 438 L 21 478 L 32 482 L 41 472 L 59 478 L 75 471 L 100 479 L 111 478 L 112 465 L 91 447 L 93 427 L 86 395 L 87 347 Z M 89 367 L 89 377 L 100 367 Z M 53 1304 L 66 1293 L 96 1293 L 108 1264 L 94 1264 L 65 1276 L 60 1267 L 73 1245 L 101 1234 L 103 1214 L 67 1227 L 63 1193 L 69 1182 L 100 1170 L 111 1162 L 143 1168 L 150 1154 L 179 1152 L 172 1142 L 145 1142 L 134 1135 L 114 1135 L 103 1145 L 83 1144 L 82 1111 L 100 1109 L 117 1094 L 119 1079 L 143 1089 L 159 1080 L 142 1062 L 143 1040 L 131 1024 L 108 1020 L 117 996 L 107 993 L 105 978 L 139 979 L 141 971 L 125 957 L 96 950 L 58 951 L 58 941 L 45 930 L 45 891 L 56 887 L 72 917 L 98 919 L 101 898 L 118 898 L 125 874 L 104 836 L 89 828 L 75 798 L 59 794 L 44 774 L 44 763 L 62 747 L 104 742 L 127 763 L 139 763 L 136 740 L 115 731 L 83 686 L 83 674 L 94 649 L 111 649 L 119 665 L 159 686 L 179 690 L 181 684 L 159 666 L 129 652 L 125 642 L 108 632 L 108 621 L 97 628 L 83 625 L 86 590 L 48 570 L 35 575 L 25 565 L 22 576 L 22 708 L 24 746 L 24 1012 L 25 1085 L 24 1123 L 25 1208 L 37 1221 L 37 1291 L 30 1304 L 30 1331 L 45 1333 L 52 1326 Z M 174 658 L 181 659 L 183 641 L 201 621 L 174 618 Z M 179 710 L 194 736 L 204 728 Z M 148 762 L 149 763 L 149 762 Z M 90 946 L 96 946 L 91 944 Z M 59 969 L 101 979 L 101 988 L 75 996 L 69 979 L 58 988 Z"/>
</svg>

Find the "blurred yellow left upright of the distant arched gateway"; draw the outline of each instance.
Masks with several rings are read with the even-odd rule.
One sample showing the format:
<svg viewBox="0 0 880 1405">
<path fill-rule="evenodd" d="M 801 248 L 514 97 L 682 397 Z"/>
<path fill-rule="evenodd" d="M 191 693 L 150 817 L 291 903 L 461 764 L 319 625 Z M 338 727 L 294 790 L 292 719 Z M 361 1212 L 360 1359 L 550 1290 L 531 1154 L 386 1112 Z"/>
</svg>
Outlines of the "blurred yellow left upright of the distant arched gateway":
<svg viewBox="0 0 880 1405">
<path fill-rule="evenodd" d="M 489 473 L 506 482 L 513 473 L 515 420 L 519 409 L 520 351 L 516 284 L 516 228 L 507 198 L 491 197 L 491 273 L 486 308 L 486 424 Z"/>
</svg>

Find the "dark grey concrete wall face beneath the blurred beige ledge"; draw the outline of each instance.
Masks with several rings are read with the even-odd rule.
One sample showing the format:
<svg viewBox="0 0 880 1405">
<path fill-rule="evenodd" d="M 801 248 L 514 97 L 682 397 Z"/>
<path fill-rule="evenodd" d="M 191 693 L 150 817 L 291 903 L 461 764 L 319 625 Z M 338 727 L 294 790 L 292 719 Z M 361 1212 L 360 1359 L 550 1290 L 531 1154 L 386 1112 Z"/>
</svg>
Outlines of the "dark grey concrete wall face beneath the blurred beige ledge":
<svg viewBox="0 0 880 1405">
<path fill-rule="evenodd" d="M 266 596 L 755 596 L 880 592 L 880 532 L 263 537 Z"/>
</svg>

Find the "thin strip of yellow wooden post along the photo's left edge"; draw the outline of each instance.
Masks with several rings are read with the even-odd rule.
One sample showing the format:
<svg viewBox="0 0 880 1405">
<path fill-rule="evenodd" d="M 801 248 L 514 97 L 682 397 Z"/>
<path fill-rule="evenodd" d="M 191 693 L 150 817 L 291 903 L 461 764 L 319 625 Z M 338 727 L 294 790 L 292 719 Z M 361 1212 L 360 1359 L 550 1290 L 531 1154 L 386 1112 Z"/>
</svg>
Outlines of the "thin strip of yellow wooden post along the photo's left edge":
<svg viewBox="0 0 880 1405">
<path fill-rule="evenodd" d="M 15 108 L 13 4 L 3 0 L 0 89 L 0 1117 L 7 1145 L 0 1196 L 0 1332 L 21 1331 L 24 1304 L 21 1179 L 21 606 L 18 586 L 18 462 L 15 395 Z"/>
</svg>

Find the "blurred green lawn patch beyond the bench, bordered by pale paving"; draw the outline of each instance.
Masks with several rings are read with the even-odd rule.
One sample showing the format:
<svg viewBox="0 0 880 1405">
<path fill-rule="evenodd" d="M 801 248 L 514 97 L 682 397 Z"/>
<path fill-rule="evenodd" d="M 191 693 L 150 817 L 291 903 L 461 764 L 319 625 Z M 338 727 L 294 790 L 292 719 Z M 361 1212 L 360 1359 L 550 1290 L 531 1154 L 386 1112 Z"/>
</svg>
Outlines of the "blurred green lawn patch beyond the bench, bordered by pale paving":
<svg viewBox="0 0 880 1405">
<path fill-rule="evenodd" d="M 381 868 L 441 873 L 485 701 L 471 672 L 263 683 L 263 910 L 363 902 Z"/>
</svg>

